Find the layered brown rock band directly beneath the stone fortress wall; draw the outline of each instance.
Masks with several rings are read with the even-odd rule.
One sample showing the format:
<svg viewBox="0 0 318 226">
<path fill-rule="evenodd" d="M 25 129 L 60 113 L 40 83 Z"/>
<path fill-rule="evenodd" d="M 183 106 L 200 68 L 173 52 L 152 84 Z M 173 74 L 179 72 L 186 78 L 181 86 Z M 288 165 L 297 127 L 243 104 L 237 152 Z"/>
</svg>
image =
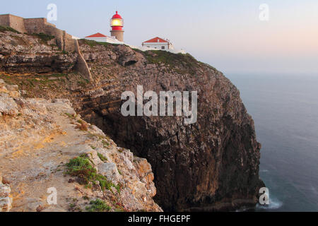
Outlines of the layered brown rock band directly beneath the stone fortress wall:
<svg viewBox="0 0 318 226">
<path fill-rule="evenodd" d="M 46 38 L 46 37 L 43 37 Z M 76 65 L 77 52 L 61 51 L 37 35 L 0 32 L 0 69 L 8 73 L 66 73 Z"/>
</svg>

